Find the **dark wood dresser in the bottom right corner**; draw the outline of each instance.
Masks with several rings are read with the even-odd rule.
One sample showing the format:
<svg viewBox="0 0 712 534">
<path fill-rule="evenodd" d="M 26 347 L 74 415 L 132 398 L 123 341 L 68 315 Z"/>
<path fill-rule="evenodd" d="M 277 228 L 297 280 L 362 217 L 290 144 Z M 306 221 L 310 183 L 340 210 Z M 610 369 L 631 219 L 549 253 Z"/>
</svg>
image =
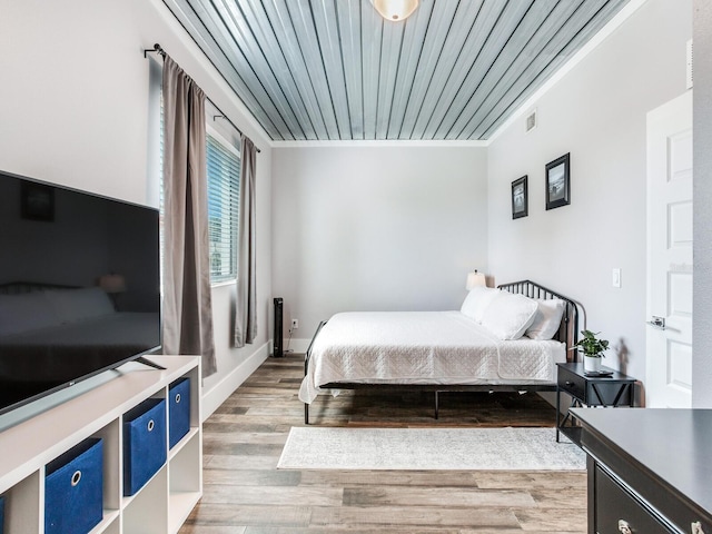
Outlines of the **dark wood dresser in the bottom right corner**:
<svg viewBox="0 0 712 534">
<path fill-rule="evenodd" d="M 590 534 L 712 534 L 712 409 L 572 408 Z"/>
</svg>

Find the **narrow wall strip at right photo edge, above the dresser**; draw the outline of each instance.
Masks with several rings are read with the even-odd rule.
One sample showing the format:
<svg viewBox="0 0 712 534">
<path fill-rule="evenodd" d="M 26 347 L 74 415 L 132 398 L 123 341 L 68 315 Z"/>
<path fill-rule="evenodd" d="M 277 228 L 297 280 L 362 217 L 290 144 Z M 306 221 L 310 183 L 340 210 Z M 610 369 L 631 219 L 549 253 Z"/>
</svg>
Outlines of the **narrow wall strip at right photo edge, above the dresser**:
<svg viewBox="0 0 712 534">
<path fill-rule="evenodd" d="M 695 58 L 712 57 L 712 4 L 694 1 Z M 692 406 L 712 408 L 712 66 L 696 60 L 694 136 L 694 309 Z"/>
</svg>

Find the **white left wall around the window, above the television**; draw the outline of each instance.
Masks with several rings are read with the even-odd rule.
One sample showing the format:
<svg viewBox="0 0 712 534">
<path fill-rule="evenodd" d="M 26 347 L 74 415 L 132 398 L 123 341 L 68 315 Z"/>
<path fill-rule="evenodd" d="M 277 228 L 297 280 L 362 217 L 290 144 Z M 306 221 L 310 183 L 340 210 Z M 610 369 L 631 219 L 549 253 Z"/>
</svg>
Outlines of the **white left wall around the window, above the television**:
<svg viewBox="0 0 712 534">
<path fill-rule="evenodd" d="M 270 287 L 270 148 L 244 106 L 160 0 L 3 0 L 0 16 L 0 169 L 155 205 L 150 176 L 149 65 L 155 42 L 263 152 L 257 167 L 258 339 L 229 346 L 233 290 L 214 289 L 218 374 L 207 411 L 267 355 Z M 216 404 L 217 403 L 217 404 Z"/>
</svg>

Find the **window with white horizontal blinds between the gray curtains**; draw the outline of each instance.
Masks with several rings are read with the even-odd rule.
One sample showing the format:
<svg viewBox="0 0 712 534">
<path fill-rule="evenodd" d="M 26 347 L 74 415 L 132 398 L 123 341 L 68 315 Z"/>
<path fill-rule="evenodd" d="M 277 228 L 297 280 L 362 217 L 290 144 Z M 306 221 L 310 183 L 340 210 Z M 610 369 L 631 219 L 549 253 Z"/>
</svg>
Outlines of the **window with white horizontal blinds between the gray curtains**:
<svg viewBox="0 0 712 534">
<path fill-rule="evenodd" d="M 207 161 L 210 281 L 219 283 L 237 277 L 240 160 L 235 148 L 208 135 Z"/>
</svg>

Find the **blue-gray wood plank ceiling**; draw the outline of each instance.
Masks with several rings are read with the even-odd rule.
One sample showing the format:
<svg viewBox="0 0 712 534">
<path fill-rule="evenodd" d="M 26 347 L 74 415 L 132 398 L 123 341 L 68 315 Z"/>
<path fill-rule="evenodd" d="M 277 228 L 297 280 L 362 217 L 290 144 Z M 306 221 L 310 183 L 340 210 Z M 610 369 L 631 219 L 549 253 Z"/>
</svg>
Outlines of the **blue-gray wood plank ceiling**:
<svg viewBox="0 0 712 534">
<path fill-rule="evenodd" d="M 273 140 L 486 140 L 629 0 L 164 0 Z"/>
</svg>

